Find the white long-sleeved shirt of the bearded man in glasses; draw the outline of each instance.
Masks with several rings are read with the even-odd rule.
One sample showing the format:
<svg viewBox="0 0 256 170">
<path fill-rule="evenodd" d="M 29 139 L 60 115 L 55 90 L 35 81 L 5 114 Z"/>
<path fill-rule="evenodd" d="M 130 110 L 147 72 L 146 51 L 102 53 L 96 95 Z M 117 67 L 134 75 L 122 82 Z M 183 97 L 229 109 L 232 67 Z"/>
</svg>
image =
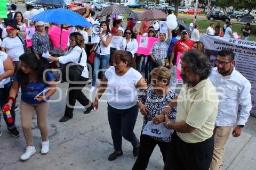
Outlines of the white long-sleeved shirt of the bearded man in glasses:
<svg viewBox="0 0 256 170">
<path fill-rule="evenodd" d="M 216 126 L 232 126 L 236 124 L 238 105 L 241 105 L 237 125 L 245 125 L 251 111 L 251 83 L 235 67 L 229 76 L 223 77 L 212 68 L 209 77 L 219 96 L 219 108 Z"/>
</svg>

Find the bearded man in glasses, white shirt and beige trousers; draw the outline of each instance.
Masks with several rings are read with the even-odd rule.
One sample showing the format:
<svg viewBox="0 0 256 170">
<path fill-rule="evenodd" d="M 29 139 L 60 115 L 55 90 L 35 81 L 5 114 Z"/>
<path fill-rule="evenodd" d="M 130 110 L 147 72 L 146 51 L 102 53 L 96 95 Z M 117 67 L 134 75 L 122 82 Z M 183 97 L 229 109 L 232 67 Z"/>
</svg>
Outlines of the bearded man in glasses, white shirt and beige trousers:
<svg viewBox="0 0 256 170">
<path fill-rule="evenodd" d="M 221 50 L 216 59 L 217 67 L 212 68 L 209 79 L 219 96 L 218 114 L 214 128 L 214 153 L 209 170 L 218 170 L 222 164 L 224 147 L 234 124 L 233 137 L 241 135 L 251 111 L 251 83 L 236 71 L 232 50 Z M 240 117 L 236 123 L 238 105 Z"/>
</svg>

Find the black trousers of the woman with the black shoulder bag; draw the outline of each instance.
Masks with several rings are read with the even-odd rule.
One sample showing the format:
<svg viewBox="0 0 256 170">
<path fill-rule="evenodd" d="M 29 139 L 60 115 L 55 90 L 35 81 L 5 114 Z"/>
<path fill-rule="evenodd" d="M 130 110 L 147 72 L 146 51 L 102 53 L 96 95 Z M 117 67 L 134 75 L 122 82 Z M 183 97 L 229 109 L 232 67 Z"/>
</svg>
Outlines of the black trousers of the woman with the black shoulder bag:
<svg viewBox="0 0 256 170">
<path fill-rule="evenodd" d="M 66 108 L 65 108 L 65 114 L 66 117 L 73 117 L 73 110 L 74 105 L 76 104 L 76 100 L 81 103 L 83 106 L 90 107 L 92 105 L 92 102 L 87 99 L 87 97 L 83 94 L 82 89 L 86 86 L 88 78 L 80 77 L 80 82 L 83 82 L 82 84 L 68 84 L 68 90 L 67 90 L 67 97 L 66 97 Z M 71 88 L 77 88 L 77 89 L 71 89 Z M 69 104 L 70 107 L 67 105 Z"/>
</svg>

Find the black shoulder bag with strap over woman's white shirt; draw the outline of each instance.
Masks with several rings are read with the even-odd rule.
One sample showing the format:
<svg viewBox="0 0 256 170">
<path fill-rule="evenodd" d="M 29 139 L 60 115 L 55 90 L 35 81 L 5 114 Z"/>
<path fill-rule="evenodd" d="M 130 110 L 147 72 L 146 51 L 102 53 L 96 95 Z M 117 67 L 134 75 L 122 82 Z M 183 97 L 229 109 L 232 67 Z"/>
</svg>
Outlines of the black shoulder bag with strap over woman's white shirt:
<svg viewBox="0 0 256 170">
<path fill-rule="evenodd" d="M 70 84 L 76 84 L 76 81 L 79 81 L 80 76 L 83 72 L 83 69 L 84 69 L 84 67 L 86 67 L 86 66 L 82 66 L 79 64 L 81 62 L 82 53 L 83 53 L 82 48 L 81 48 L 81 50 L 82 50 L 82 52 L 80 54 L 78 63 L 68 62 L 67 64 L 63 65 L 63 67 L 61 68 L 63 81 L 66 81 Z"/>
</svg>

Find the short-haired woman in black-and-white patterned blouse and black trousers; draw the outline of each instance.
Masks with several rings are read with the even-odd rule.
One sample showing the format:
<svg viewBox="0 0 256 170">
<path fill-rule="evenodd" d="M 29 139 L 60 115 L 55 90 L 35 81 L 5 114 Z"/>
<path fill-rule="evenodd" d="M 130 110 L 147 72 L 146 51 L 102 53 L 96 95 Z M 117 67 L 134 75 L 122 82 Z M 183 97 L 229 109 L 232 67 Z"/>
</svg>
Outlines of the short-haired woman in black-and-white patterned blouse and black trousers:
<svg viewBox="0 0 256 170">
<path fill-rule="evenodd" d="M 150 120 L 153 120 L 153 123 L 155 124 L 159 124 L 161 121 L 163 121 L 164 115 L 160 114 L 160 112 L 172 99 L 176 97 L 175 92 L 169 87 L 171 73 L 167 68 L 163 66 L 154 68 L 150 74 L 152 76 L 152 86 L 149 86 L 146 90 L 138 93 L 136 97 L 136 102 L 139 106 L 140 112 L 142 115 L 144 115 L 142 131 Z M 176 111 L 176 107 L 170 110 L 170 113 L 168 114 L 170 120 L 175 120 Z M 173 133 L 173 129 L 169 130 L 170 136 L 167 138 L 158 138 L 141 134 L 139 155 L 135 164 L 133 165 L 133 170 L 143 170 L 147 168 L 149 158 L 156 145 L 160 147 L 163 160 L 165 162 L 166 151 Z"/>
</svg>

